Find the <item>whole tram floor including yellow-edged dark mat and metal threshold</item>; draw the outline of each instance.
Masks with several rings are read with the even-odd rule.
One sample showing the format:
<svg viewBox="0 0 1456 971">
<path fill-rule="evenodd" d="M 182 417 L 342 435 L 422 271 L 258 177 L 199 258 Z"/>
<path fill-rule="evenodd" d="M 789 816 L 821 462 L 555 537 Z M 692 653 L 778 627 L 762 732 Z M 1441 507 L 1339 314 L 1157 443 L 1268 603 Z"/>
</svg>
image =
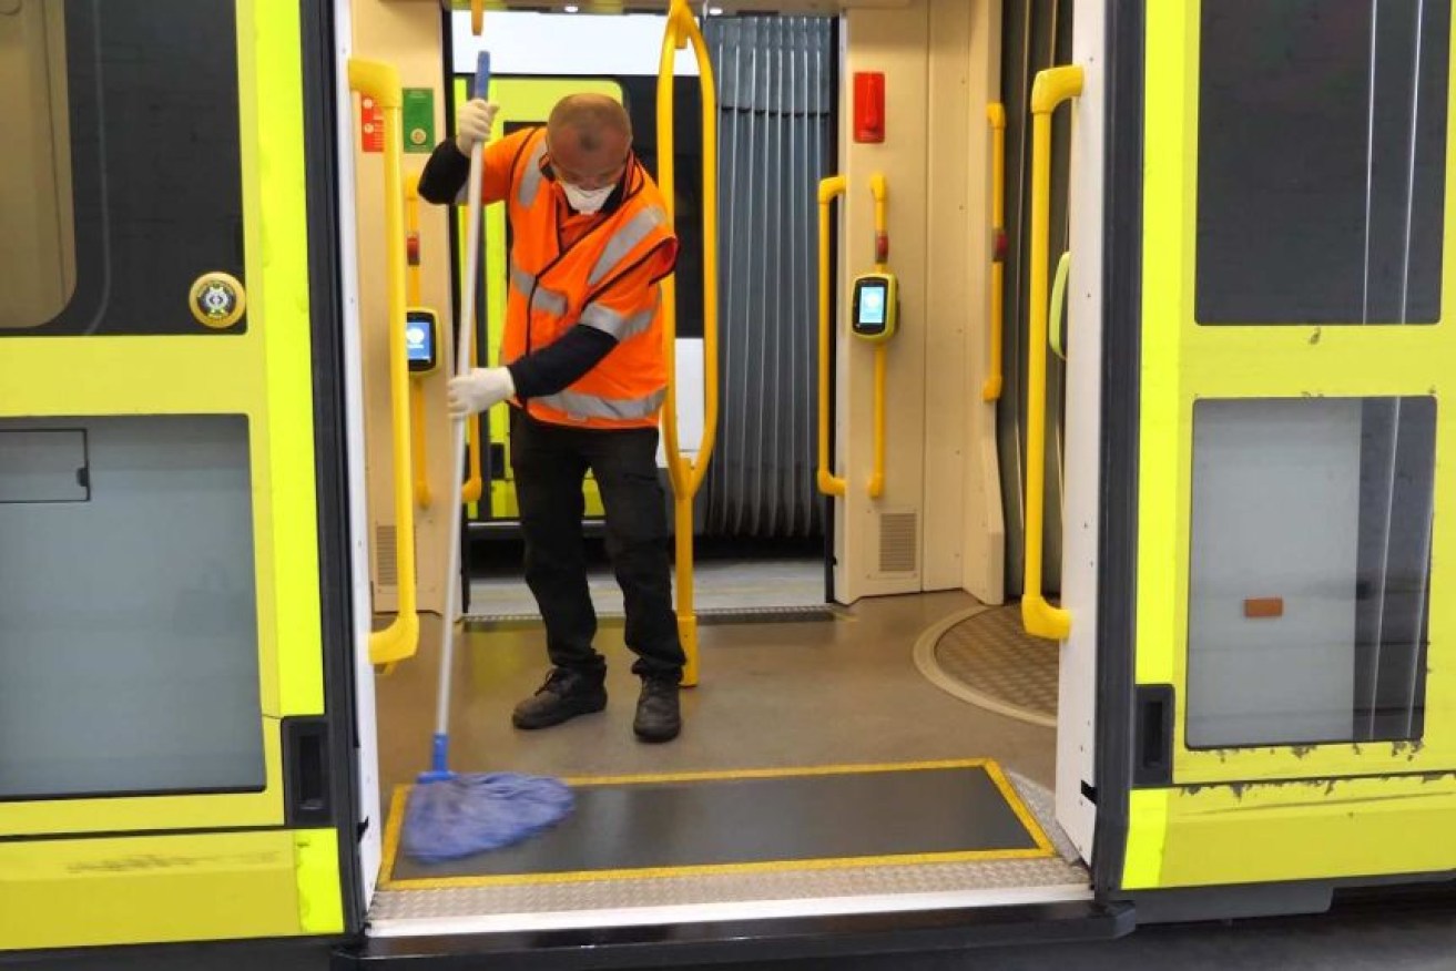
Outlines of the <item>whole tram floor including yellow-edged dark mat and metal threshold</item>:
<svg viewBox="0 0 1456 971">
<path fill-rule="evenodd" d="M 628 792 L 630 785 L 578 795 L 581 818 L 563 824 L 562 833 L 534 837 L 540 844 L 526 852 L 483 855 L 476 865 L 447 868 L 448 873 L 412 866 L 395 852 L 403 786 L 427 767 L 432 732 L 438 627 L 427 622 L 421 657 L 379 681 L 381 795 L 386 806 L 393 804 L 386 831 L 395 839 L 386 840 L 383 889 L 371 911 L 376 929 L 409 933 L 414 923 L 437 926 L 447 919 L 505 927 L 513 914 L 531 920 L 561 914 L 569 924 L 609 908 L 750 907 L 770 898 L 885 898 L 965 888 L 990 898 L 1031 887 L 1083 892 L 1085 871 L 1069 859 L 1073 853 L 1051 820 L 1054 731 L 958 700 L 916 667 L 916 639 L 974 604 L 957 592 L 904 595 L 796 613 L 789 622 L 760 614 L 703 625 L 699 686 L 683 691 L 683 734 L 661 745 L 632 734 L 638 681 L 620 622 L 603 620 L 598 633 L 609 661 L 606 712 L 531 732 L 513 728 L 510 712 L 546 673 L 539 623 L 466 623 L 457 632 L 451 697 L 454 770 L 546 774 L 574 785 L 628 777 L 657 788 L 646 793 L 651 798 Z M 986 785 L 970 779 L 981 766 L 989 766 Z M 837 772 L 844 767 L 859 772 Z M 833 796 L 824 789 L 826 770 L 836 770 L 834 785 L 860 785 L 872 773 L 882 773 L 877 777 L 885 785 L 869 782 L 868 798 Z M 927 831 L 893 844 L 863 836 L 872 831 L 869 824 L 858 830 L 846 824 L 850 836 L 837 844 L 830 840 L 826 846 L 833 849 L 814 847 L 810 830 L 823 814 L 804 806 L 839 799 L 844 814 L 917 818 L 922 812 L 929 820 L 932 804 L 945 796 L 936 779 L 951 779 L 949 770 L 970 773 L 957 785 L 981 793 L 962 798 L 984 827 L 949 824 L 939 836 Z M 754 825 L 741 825 L 741 815 L 715 812 L 712 805 L 700 811 L 703 799 L 744 799 L 735 785 L 744 776 L 756 776 L 761 798 L 779 801 L 783 812 L 770 806 Z M 895 783 L 900 795 L 891 796 Z M 721 796 L 709 795 L 713 786 Z M 629 804 L 644 806 L 633 824 L 617 818 L 632 814 Z M 687 805 L 699 811 L 683 811 Z M 654 830 L 652 814 L 661 830 Z M 684 839 L 683 830 L 695 824 L 708 831 L 697 841 Z M 593 833 L 603 840 L 626 834 L 622 839 L 642 846 L 606 853 L 591 846 Z M 680 857 L 652 847 L 655 840 L 683 847 Z M 775 846 L 779 852 L 769 849 Z M 563 856 L 553 857 L 553 847 Z M 802 853 L 785 855 L 785 847 Z"/>
</svg>

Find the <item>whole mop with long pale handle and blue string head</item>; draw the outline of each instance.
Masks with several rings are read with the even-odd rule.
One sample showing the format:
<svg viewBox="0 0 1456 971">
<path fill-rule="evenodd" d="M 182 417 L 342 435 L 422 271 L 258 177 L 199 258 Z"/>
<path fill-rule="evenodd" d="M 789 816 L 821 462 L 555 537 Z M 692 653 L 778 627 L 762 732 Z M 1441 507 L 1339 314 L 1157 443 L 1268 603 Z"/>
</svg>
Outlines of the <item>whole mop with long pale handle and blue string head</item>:
<svg viewBox="0 0 1456 971">
<path fill-rule="evenodd" d="M 491 55 L 480 52 L 473 96 L 485 98 L 491 83 Z M 470 181 L 466 202 L 466 272 L 462 284 L 456 374 L 470 373 L 470 344 L 475 336 L 475 284 L 480 265 L 480 181 L 483 146 L 470 148 Z M 466 421 L 453 418 L 456 477 L 464 480 Z M 457 486 L 459 488 L 459 486 Z M 451 502 L 451 537 L 460 536 L 462 502 Z M 419 774 L 409 793 L 400 844 L 409 856 L 441 862 L 520 843 L 563 820 L 572 809 L 572 795 L 562 782 L 515 773 L 457 774 L 450 770 L 450 678 L 454 665 L 454 616 L 460 585 L 460 543 L 450 542 L 446 572 L 446 613 L 440 623 L 440 683 L 435 699 L 435 734 L 430 772 Z"/>
</svg>

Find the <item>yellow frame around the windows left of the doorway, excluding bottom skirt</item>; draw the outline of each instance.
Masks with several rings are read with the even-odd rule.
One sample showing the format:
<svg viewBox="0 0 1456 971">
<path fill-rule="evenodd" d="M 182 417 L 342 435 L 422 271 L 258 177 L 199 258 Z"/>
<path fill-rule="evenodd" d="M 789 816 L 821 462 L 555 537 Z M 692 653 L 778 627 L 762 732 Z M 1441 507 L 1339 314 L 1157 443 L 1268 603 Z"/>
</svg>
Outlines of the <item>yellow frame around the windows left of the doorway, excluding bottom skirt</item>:
<svg viewBox="0 0 1456 971">
<path fill-rule="evenodd" d="M 0 834 L 284 823 L 280 719 L 323 712 L 298 16 L 237 3 L 248 330 L 12 336 L 0 349 L 0 416 L 246 415 L 266 788 L 6 802 Z M 186 294 L 176 309 L 186 313 Z"/>
</svg>

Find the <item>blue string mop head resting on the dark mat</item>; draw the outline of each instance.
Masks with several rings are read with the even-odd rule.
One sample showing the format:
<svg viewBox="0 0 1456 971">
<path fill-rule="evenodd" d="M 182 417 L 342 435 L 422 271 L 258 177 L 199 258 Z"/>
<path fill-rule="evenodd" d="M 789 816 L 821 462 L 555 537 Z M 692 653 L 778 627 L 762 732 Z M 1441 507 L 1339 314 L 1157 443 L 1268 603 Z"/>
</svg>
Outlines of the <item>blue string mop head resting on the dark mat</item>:
<svg viewBox="0 0 1456 971">
<path fill-rule="evenodd" d="M 422 863 L 495 850 L 561 823 L 572 802 L 556 779 L 510 772 L 422 782 L 409 793 L 402 846 Z"/>
</svg>

